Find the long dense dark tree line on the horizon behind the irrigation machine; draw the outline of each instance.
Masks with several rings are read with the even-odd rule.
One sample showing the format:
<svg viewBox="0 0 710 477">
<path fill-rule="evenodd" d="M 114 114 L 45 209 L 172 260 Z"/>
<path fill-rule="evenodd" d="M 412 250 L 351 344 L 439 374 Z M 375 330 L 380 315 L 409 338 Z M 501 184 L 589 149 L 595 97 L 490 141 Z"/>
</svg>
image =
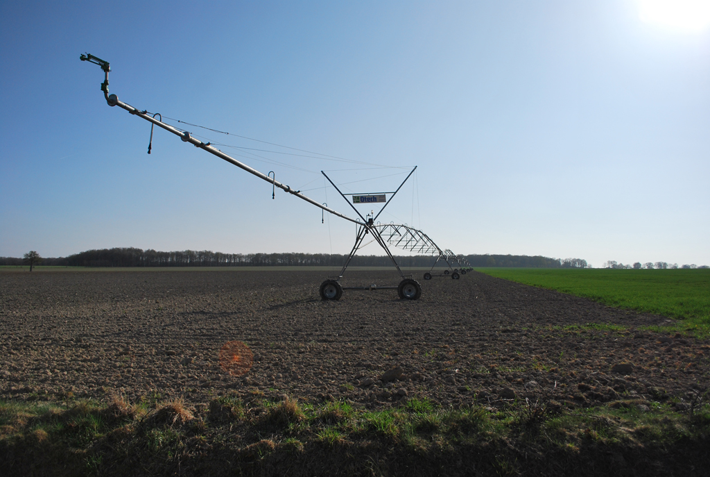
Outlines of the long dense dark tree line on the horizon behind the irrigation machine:
<svg viewBox="0 0 710 477">
<path fill-rule="evenodd" d="M 402 267 L 431 267 L 435 256 L 396 256 Z M 521 268 L 586 268 L 586 260 L 577 258 L 556 259 L 528 255 L 471 254 L 465 256 L 471 267 L 521 267 Z M 135 247 L 87 250 L 68 257 L 42 258 L 42 264 L 54 267 L 268 267 L 268 266 L 320 266 L 340 267 L 347 259 L 344 254 L 308 253 L 253 253 L 228 254 L 209 250 L 183 250 L 158 252 Z M 0 257 L 0 265 L 18 266 L 21 258 Z M 439 264 L 442 261 L 439 260 Z M 387 267 L 392 262 L 381 255 L 356 255 L 350 262 L 353 267 Z M 462 264 L 452 263 L 454 267 Z"/>
</svg>

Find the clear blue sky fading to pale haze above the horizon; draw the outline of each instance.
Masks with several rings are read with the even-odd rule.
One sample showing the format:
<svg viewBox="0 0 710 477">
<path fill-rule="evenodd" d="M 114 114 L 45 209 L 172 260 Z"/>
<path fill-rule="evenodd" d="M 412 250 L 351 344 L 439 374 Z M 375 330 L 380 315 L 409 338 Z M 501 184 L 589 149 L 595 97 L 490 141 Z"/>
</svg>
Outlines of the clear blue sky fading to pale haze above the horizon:
<svg viewBox="0 0 710 477">
<path fill-rule="evenodd" d="M 442 248 L 710 264 L 710 11 L 687 2 L 5 2 L 0 256 L 352 247 L 172 134 L 146 154 L 88 52 L 120 100 L 347 215 L 320 171 L 363 193 L 417 166 L 379 220 Z"/>
</svg>

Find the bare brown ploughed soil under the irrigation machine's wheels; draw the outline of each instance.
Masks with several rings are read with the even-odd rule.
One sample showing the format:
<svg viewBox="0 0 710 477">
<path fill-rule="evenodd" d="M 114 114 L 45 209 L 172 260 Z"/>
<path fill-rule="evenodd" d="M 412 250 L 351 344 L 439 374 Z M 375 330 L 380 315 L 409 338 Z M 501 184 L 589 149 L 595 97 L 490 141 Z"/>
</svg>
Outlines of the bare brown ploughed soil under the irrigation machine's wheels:
<svg viewBox="0 0 710 477">
<path fill-rule="evenodd" d="M 321 301 L 327 272 L 0 273 L 0 398 L 182 397 L 200 409 L 217 395 L 259 390 L 369 408 L 525 397 L 553 407 L 635 400 L 682 408 L 710 385 L 708 341 L 640 329 L 669 324 L 663 316 L 476 272 L 420 275 L 417 301 L 395 290 Z M 344 284 L 398 281 L 352 272 Z M 220 366 L 229 341 L 251 348 L 246 375 Z"/>
</svg>

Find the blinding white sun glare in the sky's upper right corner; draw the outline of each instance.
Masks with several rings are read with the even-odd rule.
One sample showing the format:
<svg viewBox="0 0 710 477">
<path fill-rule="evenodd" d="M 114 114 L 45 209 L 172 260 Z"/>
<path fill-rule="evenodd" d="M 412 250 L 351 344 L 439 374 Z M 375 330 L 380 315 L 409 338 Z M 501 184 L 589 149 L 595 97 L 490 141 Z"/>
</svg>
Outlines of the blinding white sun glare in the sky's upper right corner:
<svg viewBox="0 0 710 477">
<path fill-rule="evenodd" d="M 710 26 L 710 0 L 636 0 L 642 21 L 680 31 Z"/>
</svg>

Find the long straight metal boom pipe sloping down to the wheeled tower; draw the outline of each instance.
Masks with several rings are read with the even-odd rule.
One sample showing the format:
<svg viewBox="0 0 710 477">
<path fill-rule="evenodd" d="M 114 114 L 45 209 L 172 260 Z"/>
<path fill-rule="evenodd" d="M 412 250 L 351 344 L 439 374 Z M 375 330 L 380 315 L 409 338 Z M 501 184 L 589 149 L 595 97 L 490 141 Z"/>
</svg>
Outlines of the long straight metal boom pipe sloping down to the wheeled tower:
<svg viewBox="0 0 710 477">
<path fill-rule="evenodd" d="M 148 112 L 146 111 L 140 111 L 139 109 L 131 106 L 130 104 L 126 104 L 125 102 L 122 102 L 119 100 L 116 95 L 106 95 L 107 96 L 107 102 L 109 103 L 109 106 L 118 106 L 121 107 L 122 109 L 126 109 L 126 111 L 130 112 L 131 114 L 142 117 L 143 119 L 146 119 L 146 121 L 151 122 L 155 124 L 155 126 L 162 127 L 165 129 L 165 131 L 172 132 L 175 134 L 175 136 L 180 136 L 180 139 L 185 142 L 189 142 L 190 144 L 193 144 L 195 147 L 199 147 L 200 149 L 204 149 L 204 151 L 209 152 L 210 154 L 214 154 L 215 156 L 219 157 L 219 159 L 224 159 L 224 161 L 229 162 L 229 164 L 234 164 L 234 166 L 237 166 L 241 169 L 244 169 L 244 171 L 247 171 L 254 176 L 262 179 L 263 181 L 266 181 L 268 183 L 273 184 L 273 186 L 278 187 L 280 189 L 283 189 L 283 191 L 288 192 L 292 195 L 295 195 L 297 198 L 300 198 L 302 200 L 305 200 L 308 203 L 312 203 L 318 208 L 322 208 L 328 213 L 332 213 L 333 215 L 337 215 L 340 218 L 344 218 L 345 220 L 349 220 L 350 222 L 359 224 L 359 225 L 365 225 L 364 222 L 361 222 L 360 220 L 348 217 L 345 214 L 339 213 L 337 210 L 333 210 L 332 208 L 329 208 L 325 205 L 322 205 L 321 203 L 317 202 L 317 200 L 313 200 L 312 198 L 308 197 L 307 195 L 303 195 L 300 193 L 300 191 L 294 191 L 292 188 L 289 186 L 286 186 L 283 183 L 280 183 L 279 181 L 276 181 L 275 179 L 272 179 L 271 177 L 267 176 L 266 174 L 263 174 L 259 171 L 257 171 L 255 168 L 251 168 L 244 164 L 243 162 L 237 161 L 233 157 L 224 154 L 224 152 L 220 151 L 219 149 L 215 148 L 214 146 L 210 146 L 209 142 L 205 143 L 200 141 L 199 139 L 195 139 L 194 137 L 190 136 L 189 132 L 182 132 L 180 129 L 177 129 L 175 127 L 170 126 L 169 124 L 165 124 L 163 122 L 158 121 L 158 119 L 155 119 L 151 117 Z"/>
</svg>

